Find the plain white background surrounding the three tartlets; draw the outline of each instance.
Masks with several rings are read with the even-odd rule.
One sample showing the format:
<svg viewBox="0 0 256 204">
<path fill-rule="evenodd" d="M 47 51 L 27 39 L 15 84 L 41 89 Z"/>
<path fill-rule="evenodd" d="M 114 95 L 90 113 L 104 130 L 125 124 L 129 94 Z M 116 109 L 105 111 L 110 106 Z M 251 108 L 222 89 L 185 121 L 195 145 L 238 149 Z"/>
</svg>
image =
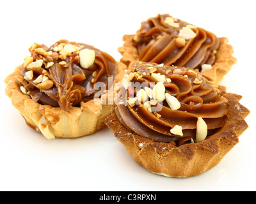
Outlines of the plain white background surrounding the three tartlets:
<svg viewBox="0 0 256 204">
<path fill-rule="evenodd" d="M 255 191 L 255 6 L 244 1 L 1 1 L 1 191 Z M 228 92 L 243 95 L 252 113 L 248 128 L 218 166 L 202 175 L 173 179 L 135 163 L 104 128 L 78 139 L 47 140 L 26 126 L 5 96 L 3 82 L 36 43 L 60 39 L 93 45 L 116 61 L 123 34 L 158 13 L 170 13 L 233 45 L 237 64 L 224 78 Z"/>
</svg>

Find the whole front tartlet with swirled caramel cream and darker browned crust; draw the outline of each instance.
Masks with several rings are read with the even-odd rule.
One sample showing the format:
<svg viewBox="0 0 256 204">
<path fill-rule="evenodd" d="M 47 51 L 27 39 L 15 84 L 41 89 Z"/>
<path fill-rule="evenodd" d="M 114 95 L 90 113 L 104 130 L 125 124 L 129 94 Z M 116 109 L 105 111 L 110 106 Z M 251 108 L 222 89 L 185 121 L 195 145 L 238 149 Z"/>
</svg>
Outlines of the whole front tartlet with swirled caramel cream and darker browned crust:
<svg viewBox="0 0 256 204">
<path fill-rule="evenodd" d="M 248 128 L 241 96 L 198 69 L 132 62 L 107 126 L 134 161 L 167 177 L 192 177 L 220 163 Z"/>
</svg>

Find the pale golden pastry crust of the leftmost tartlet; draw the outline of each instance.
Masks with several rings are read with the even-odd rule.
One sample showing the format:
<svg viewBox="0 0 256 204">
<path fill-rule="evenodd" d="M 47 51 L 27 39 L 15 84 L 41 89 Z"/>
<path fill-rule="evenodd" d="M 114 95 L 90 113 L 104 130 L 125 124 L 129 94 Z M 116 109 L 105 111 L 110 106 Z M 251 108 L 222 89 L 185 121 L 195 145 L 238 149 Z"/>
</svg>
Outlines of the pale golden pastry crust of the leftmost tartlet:
<svg viewBox="0 0 256 204">
<path fill-rule="evenodd" d="M 17 81 L 22 66 L 18 66 L 4 82 L 6 95 L 12 100 L 12 105 L 19 110 L 30 128 L 41 132 L 46 138 L 78 138 L 95 133 L 105 126 L 104 120 L 110 114 L 109 105 L 99 105 L 93 100 L 81 102 L 81 107 L 72 107 L 70 112 L 60 107 L 40 105 L 30 96 L 20 91 Z M 124 77 L 126 66 L 118 62 L 115 82 L 120 82 Z M 115 83 L 114 82 L 114 83 Z"/>
</svg>

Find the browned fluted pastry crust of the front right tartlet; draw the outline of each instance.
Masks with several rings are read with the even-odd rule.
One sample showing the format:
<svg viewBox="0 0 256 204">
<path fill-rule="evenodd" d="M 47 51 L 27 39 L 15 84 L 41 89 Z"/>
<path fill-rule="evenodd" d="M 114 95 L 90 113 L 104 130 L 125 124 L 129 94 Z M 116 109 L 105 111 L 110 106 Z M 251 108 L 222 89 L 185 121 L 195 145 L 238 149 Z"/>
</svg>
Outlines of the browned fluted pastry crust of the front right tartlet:
<svg viewBox="0 0 256 204">
<path fill-rule="evenodd" d="M 221 87 L 223 89 L 223 87 Z M 123 143 L 132 158 L 148 171 L 167 177 L 192 177 L 210 170 L 239 142 L 248 128 L 244 118 L 250 111 L 238 101 L 241 96 L 223 93 L 228 99 L 228 120 L 218 133 L 200 143 L 176 147 L 170 143 L 154 142 L 126 129 L 113 112 L 106 119 L 107 126 Z"/>
</svg>

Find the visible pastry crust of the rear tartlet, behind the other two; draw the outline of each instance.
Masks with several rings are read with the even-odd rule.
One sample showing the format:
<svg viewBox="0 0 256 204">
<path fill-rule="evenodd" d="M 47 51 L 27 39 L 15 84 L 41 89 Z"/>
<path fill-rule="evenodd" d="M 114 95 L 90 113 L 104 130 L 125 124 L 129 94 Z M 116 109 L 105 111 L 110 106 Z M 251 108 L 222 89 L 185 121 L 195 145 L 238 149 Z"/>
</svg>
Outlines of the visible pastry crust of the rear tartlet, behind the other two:
<svg viewBox="0 0 256 204">
<path fill-rule="evenodd" d="M 123 36 L 124 45 L 118 48 L 118 52 L 122 54 L 121 62 L 129 66 L 130 62 L 139 61 L 138 51 L 133 46 L 133 38 L 135 34 L 125 34 Z M 220 47 L 216 53 L 216 60 L 212 68 L 202 72 L 202 75 L 207 78 L 212 84 L 220 84 L 223 77 L 230 71 L 232 65 L 236 63 L 236 58 L 232 56 L 234 50 L 228 44 L 227 38 L 219 38 Z"/>
</svg>

